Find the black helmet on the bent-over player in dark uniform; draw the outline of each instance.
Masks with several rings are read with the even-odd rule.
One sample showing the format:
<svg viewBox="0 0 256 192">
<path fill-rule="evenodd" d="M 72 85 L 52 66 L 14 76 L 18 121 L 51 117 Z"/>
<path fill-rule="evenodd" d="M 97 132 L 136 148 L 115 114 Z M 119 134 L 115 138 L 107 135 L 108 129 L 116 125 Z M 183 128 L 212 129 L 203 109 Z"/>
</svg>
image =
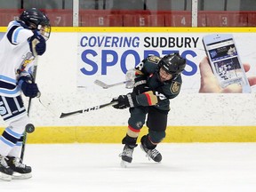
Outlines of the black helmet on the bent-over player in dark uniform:
<svg viewBox="0 0 256 192">
<path fill-rule="evenodd" d="M 180 57 L 179 53 L 165 55 L 159 62 L 159 68 L 163 68 L 172 76 L 179 75 L 186 67 L 186 60 Z"/>
</svg>

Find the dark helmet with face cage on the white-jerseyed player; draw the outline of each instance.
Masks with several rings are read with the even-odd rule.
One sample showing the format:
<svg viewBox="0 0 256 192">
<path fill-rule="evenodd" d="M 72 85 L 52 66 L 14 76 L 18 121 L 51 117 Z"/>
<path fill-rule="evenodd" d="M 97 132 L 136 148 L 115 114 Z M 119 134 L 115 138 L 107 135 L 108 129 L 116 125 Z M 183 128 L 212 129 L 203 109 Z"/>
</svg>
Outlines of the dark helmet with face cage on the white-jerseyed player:
<svg viewBox="0 0 256 192">
<path fill-rule="evenodd" d="M 28 28 L 39 30 L 45 40 L 48 40 L 51 35 L 50 20 L 43 12 L 36 8 L 25 10 L 20 14 L 20 20 L 24 21 Z"/>
</svg>

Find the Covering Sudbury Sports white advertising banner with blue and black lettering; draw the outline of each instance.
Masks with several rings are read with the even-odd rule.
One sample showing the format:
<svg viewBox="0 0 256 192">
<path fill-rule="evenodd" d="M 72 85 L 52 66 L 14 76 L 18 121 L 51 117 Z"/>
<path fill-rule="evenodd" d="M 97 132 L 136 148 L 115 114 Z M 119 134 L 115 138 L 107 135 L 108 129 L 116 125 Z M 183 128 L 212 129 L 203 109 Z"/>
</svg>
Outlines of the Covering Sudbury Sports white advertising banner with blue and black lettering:
<svg viewBox="0 0 256 192">
<path fill-rule="evenodd" d="M 203 36 L 210 33 L 79 33 L 77 87 L 90 90 L 93 82 L 115 84 L 124 81 L 125 73 L 148 55 L 163 57 L 179 52 L 186 58 L 182 73 L 182 92 L 198 92 L 200 88 L 199 63 L 206 56 Z M 212 33 L 213 34 L 213 33 Z M 233 34 L 242 62 L 251 63 L 250 73 L 256 76 L 254 34 Z M 248 73 L 248 75 L 250 74 Z"/>
</svg>

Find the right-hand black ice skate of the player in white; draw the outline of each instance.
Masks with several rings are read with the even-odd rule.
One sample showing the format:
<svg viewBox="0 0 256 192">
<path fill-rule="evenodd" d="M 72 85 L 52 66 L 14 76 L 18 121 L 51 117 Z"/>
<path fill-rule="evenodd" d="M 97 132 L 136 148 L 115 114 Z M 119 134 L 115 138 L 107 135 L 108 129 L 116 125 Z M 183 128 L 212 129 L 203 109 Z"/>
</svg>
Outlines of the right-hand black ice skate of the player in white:
<svg viewBox="0 0 256 192">
<path fill-rule="evenodd" d="M 20 161 L 20 158 L 13 157 L 13 156 L 8 156 L 7 158 L 8 158 L 7 164 L 13 170 L 13 174 L 12 174 L 13 180 L 24 180 L 32 177 L 31 167 L 27 166 L 26 164 L 22 164 Z"/>
</svg>

